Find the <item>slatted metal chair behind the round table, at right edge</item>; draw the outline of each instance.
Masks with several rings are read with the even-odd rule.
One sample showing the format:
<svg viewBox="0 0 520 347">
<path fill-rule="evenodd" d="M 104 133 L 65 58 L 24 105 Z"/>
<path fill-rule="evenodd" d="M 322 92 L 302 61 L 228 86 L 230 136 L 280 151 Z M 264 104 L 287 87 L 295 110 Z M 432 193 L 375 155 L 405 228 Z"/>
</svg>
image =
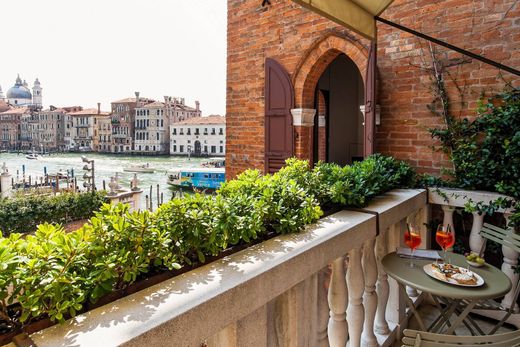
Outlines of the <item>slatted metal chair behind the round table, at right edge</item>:
<svg viewBox="0 0 520 347">
<path fill-rule="evenodd" d="M 503 246 L 509 247 L 516 252 L 520 252 L 520 235 L 516 234 L 513 229 L 502 229 L 497 226 L 485 223 L 480 231 L 480 235 L 484 238 L 484 244 L 480 250 L 480 256 L 484 252 L 486 247 L 487 240 L 495 241 Z M 504 325 L 504 322 L 515 313 L 516 309 L 516 301 L 518 299 L 518 295 L 520 293 L 520 283 L 512 283 L 514 296 L 512 304 L 509 307 L 503 307 L 500 303 L 495 300 L 486 300 L 479 304 L 477 304 L 474 309 L 475 310 L 490 310 L 490 311 L 502 311 L 504 312 L 504 316 L 500 321 L 491 329 L 488 333 L 489 335 L 494 334 L 497 330 Z M 464 309 L 462 307 L 461 309 Z M 483 334 L 480 327 L 472 320 L 469 319 L 472 325 L 479 331 L 480 334 Z"/>
</svg>

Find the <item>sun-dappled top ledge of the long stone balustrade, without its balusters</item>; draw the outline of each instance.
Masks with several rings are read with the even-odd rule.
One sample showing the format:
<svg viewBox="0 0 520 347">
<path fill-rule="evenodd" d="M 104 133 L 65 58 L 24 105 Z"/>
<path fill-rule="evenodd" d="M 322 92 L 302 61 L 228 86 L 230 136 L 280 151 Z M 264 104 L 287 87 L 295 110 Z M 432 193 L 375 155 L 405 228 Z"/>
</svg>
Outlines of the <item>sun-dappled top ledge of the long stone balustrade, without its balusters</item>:
<svg viewBox="0 0 520 347">
<path fill-rule="evenodd" d="M 425 201 L 423 190 L 396 190 L 378 197 L 369 208 L 378 210 L 381 220 L 403 219 Z M 375 225 L 373 215 L 341 211 L 300 234 L 252 246 L 31 337 L 39 347 L 160 346 L 166 341 L 200 346 L 205 338 L 360 247 L 375 236 Z"/>
</svg>

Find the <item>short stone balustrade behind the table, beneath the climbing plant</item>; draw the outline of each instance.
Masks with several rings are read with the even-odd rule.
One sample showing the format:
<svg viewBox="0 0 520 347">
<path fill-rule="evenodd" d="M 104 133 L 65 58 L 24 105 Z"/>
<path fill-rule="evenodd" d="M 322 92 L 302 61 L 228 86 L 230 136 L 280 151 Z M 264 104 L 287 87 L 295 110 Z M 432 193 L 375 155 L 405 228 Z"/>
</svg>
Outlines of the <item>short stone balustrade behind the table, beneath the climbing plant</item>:
<svg viewBox="0 0 520 347">
<path fill-rule="evenodd" d="M 495 201 L 498 198 L 511 199 L 508 196 L 492 192 L 435 188 L 429 190 L 428 203 L 441 205 L 442 211 L 444 212 L 443 223 L 451 224 L 453 226 L 453 213 L 457 208 L 464 208 L 465 205 L 469 202 L 473 204 L 480 202 L 482 204 L 489 205 L 492 201 Z M 509 209 L 499 209 L 497 212 L 502 213 L 506 220 L 506 225 L 509 224 L 509 217 L 511 216 L 512 211 Z M 479 213 L 478 211 L 472 212 L 472 214 L 473 224 L 469 237 L 469 247 L 472 252 L 480 253 L 480 251 L 483 249 L 484 239 L 480 236 L 479 232 L 484 224 L 485 215 L 483 213 Z M 454 232 L 456 233 L 456 230 L 454 230 Z M 506 246 L 502 246 L 502 253 L 504 255 L 502 271 L 511 279 L 511 283 L 513 284 L 510 292 L 502 300 L 502 306 L 510 307 L 516 285 L 518 285 L 518 280 L 520 278 L 520 274 L 515 273 L 513 268 L 518 265 L 519 254 L 518 252 L 515 252 Z M 498 311 L 492 312 L 475 310 L 475 312 L 494 319 L 500 319 L 504 314 L 503 312 Z M 515 325 L 520 329 L 520 314 L 513 314 L 507 320 L 507 322 Z"/>
</svg>

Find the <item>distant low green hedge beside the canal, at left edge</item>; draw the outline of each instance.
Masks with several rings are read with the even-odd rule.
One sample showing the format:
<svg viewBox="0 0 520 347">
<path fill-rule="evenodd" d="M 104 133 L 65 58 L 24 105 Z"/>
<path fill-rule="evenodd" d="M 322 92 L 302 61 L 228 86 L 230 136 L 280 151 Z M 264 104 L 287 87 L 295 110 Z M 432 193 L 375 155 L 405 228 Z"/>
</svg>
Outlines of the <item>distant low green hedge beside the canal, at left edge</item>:
<svg viewBox="0 0 520 347">
<path fill-rule="evenodd" d="M 105 200 L 105 192 L 30 194 L 0 199 L 0 230 L 10 233 L 33 232 L 42 223 L 65 224 L 92 217 Z"/>
</svg>

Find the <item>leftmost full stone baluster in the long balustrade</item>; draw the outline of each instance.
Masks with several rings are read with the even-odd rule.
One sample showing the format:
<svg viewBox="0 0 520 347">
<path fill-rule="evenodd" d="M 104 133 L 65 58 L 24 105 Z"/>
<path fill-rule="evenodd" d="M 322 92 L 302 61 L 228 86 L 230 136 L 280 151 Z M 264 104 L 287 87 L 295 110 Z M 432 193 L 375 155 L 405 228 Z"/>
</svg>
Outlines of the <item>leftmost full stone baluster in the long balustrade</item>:
<svg viewBox="0 0 520 347">
<path fill-rule="evenodd" d="M 345 258 L 339 257 L 332 263 L 332 274 L 329 286 L 330 318 L 328 326 L 329 345 L 345 347 L 348 339 L 346 312 L 348 290 L 345 283 Z"/>
</svg>

